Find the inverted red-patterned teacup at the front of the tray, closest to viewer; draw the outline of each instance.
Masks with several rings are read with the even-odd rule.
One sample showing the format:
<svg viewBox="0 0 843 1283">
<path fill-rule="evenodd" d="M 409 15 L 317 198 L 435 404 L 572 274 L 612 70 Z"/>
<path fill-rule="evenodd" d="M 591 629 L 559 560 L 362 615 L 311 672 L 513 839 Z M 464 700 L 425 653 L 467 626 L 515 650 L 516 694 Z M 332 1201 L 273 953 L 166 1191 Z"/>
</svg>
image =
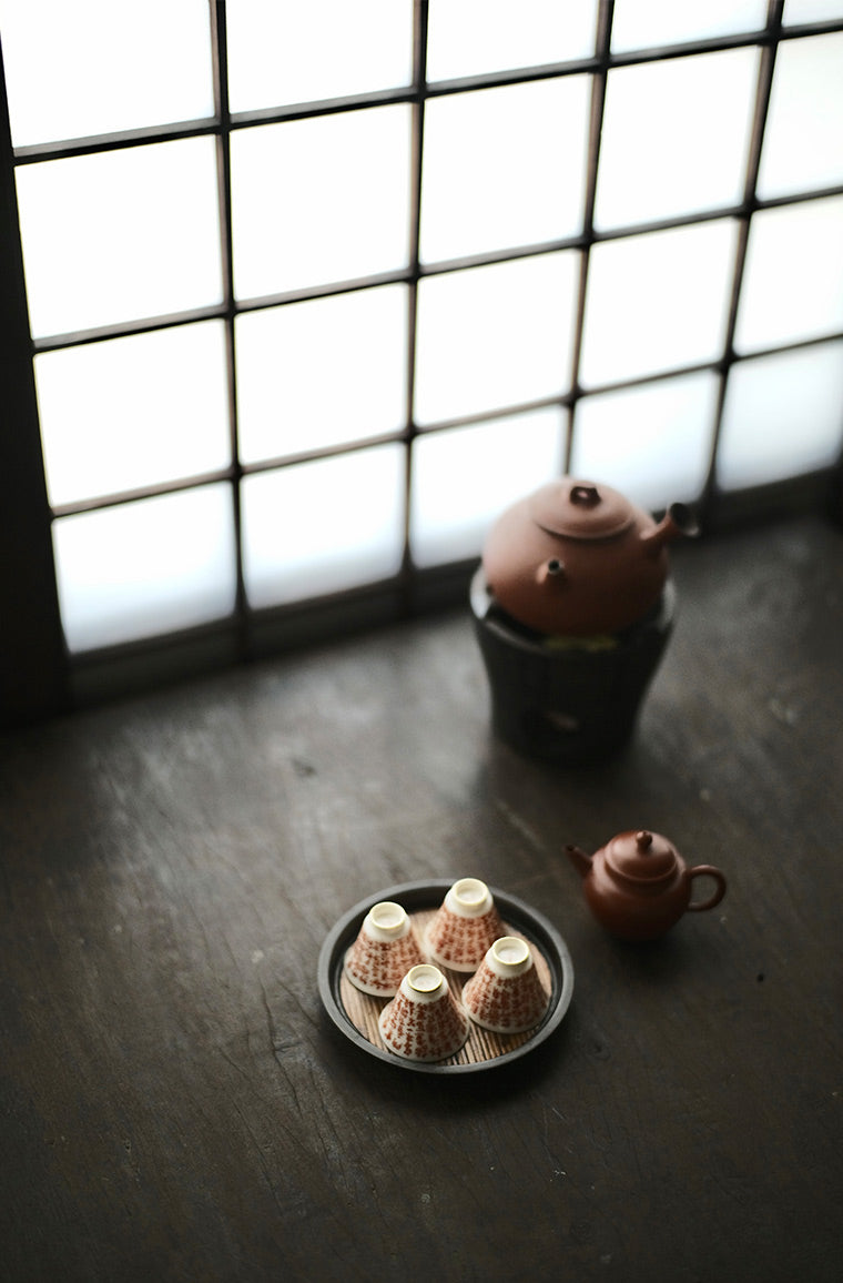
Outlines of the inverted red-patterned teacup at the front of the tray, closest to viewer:
<svg viewBox="0 0 843 1283">
<path fill-rule="evenodd" d="M 430 962 L 409 969 L 377 1024 L 391 1052 L 417 1061 L 454 1056 L 470 1029 L 448 980 Z"/>
</svg>

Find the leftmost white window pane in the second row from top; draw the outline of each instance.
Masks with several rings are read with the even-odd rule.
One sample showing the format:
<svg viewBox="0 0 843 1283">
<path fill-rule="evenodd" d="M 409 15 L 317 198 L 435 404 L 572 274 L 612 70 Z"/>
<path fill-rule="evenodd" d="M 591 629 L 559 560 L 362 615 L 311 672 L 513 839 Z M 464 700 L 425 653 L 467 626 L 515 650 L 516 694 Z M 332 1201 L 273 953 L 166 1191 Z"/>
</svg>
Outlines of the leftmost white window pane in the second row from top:
<svg viewBox="0 0 843 1283">
<path fill-rule="evenodd" d="M 32 332 L 219 303 L 213 139 L 18 168 Z"/>
</svg>

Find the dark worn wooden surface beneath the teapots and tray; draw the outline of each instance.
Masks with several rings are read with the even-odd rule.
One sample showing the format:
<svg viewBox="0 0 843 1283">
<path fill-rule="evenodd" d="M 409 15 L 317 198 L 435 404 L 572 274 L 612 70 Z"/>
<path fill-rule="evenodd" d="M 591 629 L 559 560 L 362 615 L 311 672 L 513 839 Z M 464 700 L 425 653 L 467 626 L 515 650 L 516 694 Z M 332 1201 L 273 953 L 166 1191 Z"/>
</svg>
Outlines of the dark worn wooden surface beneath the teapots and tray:
<svg viewBox="0 0 843 1283">
<path fill-rule="evenodd" d="M 467 611 L 0 740 L 0 1278 L 843 1278 L 843 535 L 674 566 L 599 767 L 495 742 Z M 630 828 L 729 879 L 658 946 L 563 854 Z M 509 1065 L 384 1064 L 322 942 L 463 874 L 561 933 L 571 1007 Z"/>
</svg>

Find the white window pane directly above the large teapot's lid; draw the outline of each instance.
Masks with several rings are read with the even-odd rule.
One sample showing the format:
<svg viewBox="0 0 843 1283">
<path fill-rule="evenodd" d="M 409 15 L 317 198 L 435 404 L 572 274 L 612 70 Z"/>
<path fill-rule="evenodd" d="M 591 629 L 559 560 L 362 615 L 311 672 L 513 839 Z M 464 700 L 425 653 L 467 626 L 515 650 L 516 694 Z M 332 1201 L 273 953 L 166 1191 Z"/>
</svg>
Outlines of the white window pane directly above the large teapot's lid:
<svg viewBox="0 0 843 1283">
<path fill-rule="evenodd" d="M 719 378 L 701 372 L 585 396 L 574 476 L 604 481 L 648 511 L 698 499 L 708 476 Z"/>
</svg>

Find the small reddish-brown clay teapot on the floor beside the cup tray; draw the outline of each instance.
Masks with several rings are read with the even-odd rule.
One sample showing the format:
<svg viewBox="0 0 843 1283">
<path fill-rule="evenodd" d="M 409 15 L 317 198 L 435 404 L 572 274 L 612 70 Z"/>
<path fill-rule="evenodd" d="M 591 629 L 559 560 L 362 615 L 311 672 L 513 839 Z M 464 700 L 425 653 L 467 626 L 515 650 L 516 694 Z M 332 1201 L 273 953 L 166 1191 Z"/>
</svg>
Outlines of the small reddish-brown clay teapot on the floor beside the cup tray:
<svg viewBox="0 0 843 1283">
<path fill-rule="evenodd" d="M 618 833 L 594 856 L 567 845 L 584 878 L 585 898 L 597 920 L 621 940 L 654 940 L 688 910 L 713 908 L 726 894 L 726 879 L 713 865 L 689 869 L 667 838 L 647 829 Z M 715 890 L 692 903 L 694 878 L 712 878 Z"/>
</svg>

